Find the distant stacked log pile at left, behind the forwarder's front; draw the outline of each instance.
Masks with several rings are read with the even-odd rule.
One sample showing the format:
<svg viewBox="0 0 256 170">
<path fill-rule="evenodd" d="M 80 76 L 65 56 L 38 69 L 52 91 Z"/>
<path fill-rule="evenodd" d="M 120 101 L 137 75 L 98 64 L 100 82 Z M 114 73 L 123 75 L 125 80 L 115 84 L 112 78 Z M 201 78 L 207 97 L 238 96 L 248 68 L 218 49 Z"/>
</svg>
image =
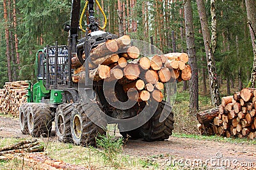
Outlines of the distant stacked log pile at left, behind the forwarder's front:
<svg viewBox="0 0 256 170">
<path fill-rule="evenodd" d="M 4 89 L 0 89 L 0 113 L 18 117 L 19 106 L 27 101 L 27 88 L 26 81 L 6 82 Z"/>
</svg>

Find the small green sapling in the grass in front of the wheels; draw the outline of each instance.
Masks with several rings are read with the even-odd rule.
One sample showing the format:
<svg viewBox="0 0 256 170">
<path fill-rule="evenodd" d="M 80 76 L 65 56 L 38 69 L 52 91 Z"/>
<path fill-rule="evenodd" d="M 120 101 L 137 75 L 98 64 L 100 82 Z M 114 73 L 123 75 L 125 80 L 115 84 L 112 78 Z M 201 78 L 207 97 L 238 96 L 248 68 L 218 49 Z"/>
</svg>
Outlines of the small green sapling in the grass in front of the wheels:
<svg viewBox="0 0 256 170">
<path fill-rule="evenodd" d="M 115 139 L 115 135 L 107 132 L 105 135 L 98 134 L 96 139 L 97 146 L 101 149 L 98 150 L 100 157 L 106 164 L 118 167 L 120 160 L 118 154 L 122 153 L 123 138 Z"/>
</svg>

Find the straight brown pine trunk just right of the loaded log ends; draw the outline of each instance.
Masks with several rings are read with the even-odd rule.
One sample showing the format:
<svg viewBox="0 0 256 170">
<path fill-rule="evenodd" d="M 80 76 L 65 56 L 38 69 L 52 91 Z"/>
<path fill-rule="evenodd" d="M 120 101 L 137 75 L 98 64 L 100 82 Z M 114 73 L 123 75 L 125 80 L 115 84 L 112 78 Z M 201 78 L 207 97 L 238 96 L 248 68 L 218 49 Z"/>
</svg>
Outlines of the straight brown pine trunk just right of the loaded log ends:
<svg viewBox="0 0 256 170">
<path fill-rule="evenodd" d="M 198 69 L 196 65 L 195 37 L 193 30 L 193 14 L 191 1 L 187 0 L 184 4 L 184 18 L 186 27 L 186 39 L 188 46 L 189 64 L 192 70 L 192 76 L 189 83 L 190 99 L 189 111 L 195 113 L 198 110 Z"/>
</svg>

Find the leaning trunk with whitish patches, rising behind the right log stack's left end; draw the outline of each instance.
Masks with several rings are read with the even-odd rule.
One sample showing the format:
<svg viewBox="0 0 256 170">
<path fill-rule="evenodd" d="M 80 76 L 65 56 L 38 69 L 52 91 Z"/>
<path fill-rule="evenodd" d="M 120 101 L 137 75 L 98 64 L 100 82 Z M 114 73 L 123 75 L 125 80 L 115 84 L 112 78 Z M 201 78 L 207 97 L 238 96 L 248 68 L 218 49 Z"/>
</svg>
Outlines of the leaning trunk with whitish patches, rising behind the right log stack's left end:
<svg viewBox="0 0 256 170">
<path fill-rule="evenodd" d="M 218 80 L 217 80 L 218 76 L 216 74 L 216 67 L 214 64 L 214 55 L 210 46 L 211 36 L 210 36 L 210 31 L 207 23 L 207 15 L 205 11 L 204 1 L 196 0 L 196 3 L 198 7 L 202 33 L 204 37 L 205 53 L 207 56 L 207 66 L 208 66 L 210 90 L 211 90 L 211 101 L 212 101 L 212 105 L 218 106 L 220 105 L 220 92 L 218 89 Z"/>
</svg>

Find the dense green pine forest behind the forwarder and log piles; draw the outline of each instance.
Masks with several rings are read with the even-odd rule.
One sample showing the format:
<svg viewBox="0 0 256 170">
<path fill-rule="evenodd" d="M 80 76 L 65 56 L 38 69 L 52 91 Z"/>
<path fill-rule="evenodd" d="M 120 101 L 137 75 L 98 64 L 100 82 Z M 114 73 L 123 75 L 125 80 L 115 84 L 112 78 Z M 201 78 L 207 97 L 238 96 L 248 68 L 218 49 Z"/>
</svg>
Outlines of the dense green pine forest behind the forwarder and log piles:
<svg viewBox="0 0 256 170">
<path fill-rule="evenodd" d="M 199 1 L 199 0 L 198 0 Z M 129 34 L 133 39 L 150 42 L 164 53 L 173 52 L 172 31 L 175 32 L 177 52 L 188 52 L 184 6 L 182 0 L 109 0 L 99 1 L 108 17 L 106 31 L 118 36 Z M 207 25 L 211 29 L 211 1 L 204 1 Z M 253 48 L 245 1 L 216 1 L 216 37 L 214 52 L 218 85 L 227 81 L 230 87 L 246 87 L 253 66 Z M 5 81 L 34 80 L 34 61 L 37 50 L 55 41 L 66 45 L 68 32 L 62 27 L 70 19 L 71 1 L 0 0 L 0 87 Z M 82 1 L 81 8 L 83 8 Z M 207 59 L 198 5 L 191 0 L 193 33 L 195 34 L 194 62 L 198 68 L 201 93 L 209 94 Z M 5 10 L 4 10 L 5 9 Z M 6 14 L 6 15 L 4 15 Z M 95 17 L 103 25 L 103 17 L 95 8 Z M 6 32 L 7 31 L 7 32 Z M 6 33 L 8 33 L 6 35 Z M 79 36 L 83 36 L 80 32 Z M 196 69 L 197 69 L 196 68 Z M 197 74 L 196 74 L 197 75 Z M 184 90 L 189 88 L 184 83 Z"/>
</svg>

